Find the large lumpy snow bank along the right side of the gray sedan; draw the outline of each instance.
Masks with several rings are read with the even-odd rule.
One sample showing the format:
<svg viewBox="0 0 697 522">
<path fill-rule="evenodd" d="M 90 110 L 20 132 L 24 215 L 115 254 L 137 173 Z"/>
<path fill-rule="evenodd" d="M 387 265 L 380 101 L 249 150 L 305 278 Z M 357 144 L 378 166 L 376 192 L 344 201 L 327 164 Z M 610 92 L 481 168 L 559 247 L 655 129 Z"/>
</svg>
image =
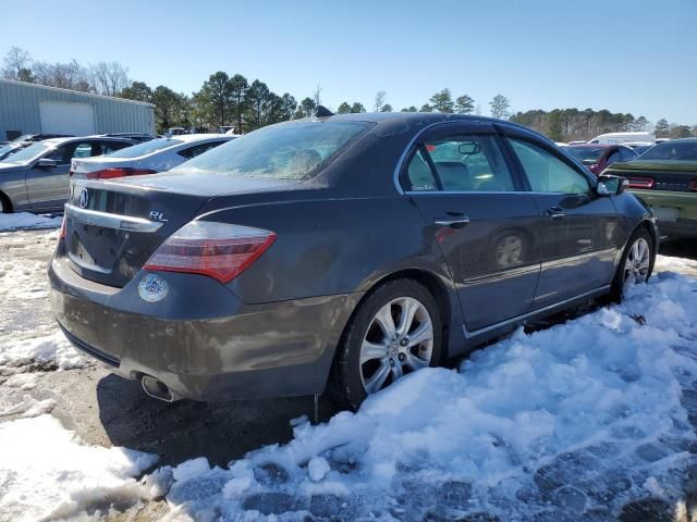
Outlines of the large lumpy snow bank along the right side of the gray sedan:
<svg viewBox="0 0 697 522">
<path fill-rule="evenodd" d="M 680 495 L 695 462 L 681 400 L 697 380 L 696 309 L 694 279 L 659 273 L 621 306 L 518 332 L 460 373 L 426 369 L 355 414 L 298 424 L 285 446 L 154 480 L 178 520 L 613 518 L 627 499 Z"/>
</svg>

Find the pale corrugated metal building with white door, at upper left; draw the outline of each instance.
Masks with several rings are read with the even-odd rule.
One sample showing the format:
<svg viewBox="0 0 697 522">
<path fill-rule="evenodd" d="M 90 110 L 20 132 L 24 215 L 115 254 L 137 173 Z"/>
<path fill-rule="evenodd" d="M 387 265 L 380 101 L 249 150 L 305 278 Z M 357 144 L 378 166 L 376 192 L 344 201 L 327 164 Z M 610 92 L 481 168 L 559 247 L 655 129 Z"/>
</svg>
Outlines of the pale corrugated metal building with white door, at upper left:
<svg viewBox="0 0 697 522">
<path fill-rule="evenodd" d="M 23 134 L 155 134 L 143 101 L 0 79 L 0 140 Z"/>
</svg>

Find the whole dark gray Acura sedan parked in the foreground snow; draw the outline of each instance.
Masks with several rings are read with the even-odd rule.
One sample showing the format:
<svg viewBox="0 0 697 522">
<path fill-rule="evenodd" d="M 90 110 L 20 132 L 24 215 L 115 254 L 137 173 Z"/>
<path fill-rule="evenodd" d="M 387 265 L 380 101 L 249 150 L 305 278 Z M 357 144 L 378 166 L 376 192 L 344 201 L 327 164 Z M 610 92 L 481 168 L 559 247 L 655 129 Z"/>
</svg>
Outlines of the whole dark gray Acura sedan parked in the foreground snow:
<svg viewBox="0 0 697 522">
<path fill-rule="evenodd" d="M 653 217 L 511 122 L 344 114 L 264 127 L 168 173 L 76 179 L 50 262 L 75 346 L 163 400 L 403 374 L 645 282 Z"/>
</svg>

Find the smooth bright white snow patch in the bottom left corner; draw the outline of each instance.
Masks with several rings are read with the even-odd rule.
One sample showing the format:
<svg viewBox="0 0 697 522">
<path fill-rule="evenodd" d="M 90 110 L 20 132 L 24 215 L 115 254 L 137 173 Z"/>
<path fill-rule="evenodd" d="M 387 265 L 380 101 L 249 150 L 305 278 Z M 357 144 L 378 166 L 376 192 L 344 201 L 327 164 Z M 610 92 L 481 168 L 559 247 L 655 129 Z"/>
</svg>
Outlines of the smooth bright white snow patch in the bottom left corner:
<svg viewBox="0 0 697 522">
<path fill-rule="evenodd" d="M 133 477 L 156 461 L 88 446 L 50 415 L 1 423 L 0 520 L 53 520 L 146 498 L 147 488 Z"/>
</svg>

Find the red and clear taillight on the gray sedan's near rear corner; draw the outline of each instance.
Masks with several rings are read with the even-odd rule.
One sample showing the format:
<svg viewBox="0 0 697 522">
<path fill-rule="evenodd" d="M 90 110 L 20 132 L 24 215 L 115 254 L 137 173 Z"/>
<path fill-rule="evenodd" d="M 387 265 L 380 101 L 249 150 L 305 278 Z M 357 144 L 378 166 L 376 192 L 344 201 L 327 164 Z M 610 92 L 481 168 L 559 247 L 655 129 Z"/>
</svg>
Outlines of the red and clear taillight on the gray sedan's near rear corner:
<svg viewBox="0 0 697 522">
<path fill-rule="evenodd" d="M 204 274 L 230 283 L 274 239 L 274 233 L 261 228 L 194 221 L 171 235 L 144 268 Z"/>
</svg>

